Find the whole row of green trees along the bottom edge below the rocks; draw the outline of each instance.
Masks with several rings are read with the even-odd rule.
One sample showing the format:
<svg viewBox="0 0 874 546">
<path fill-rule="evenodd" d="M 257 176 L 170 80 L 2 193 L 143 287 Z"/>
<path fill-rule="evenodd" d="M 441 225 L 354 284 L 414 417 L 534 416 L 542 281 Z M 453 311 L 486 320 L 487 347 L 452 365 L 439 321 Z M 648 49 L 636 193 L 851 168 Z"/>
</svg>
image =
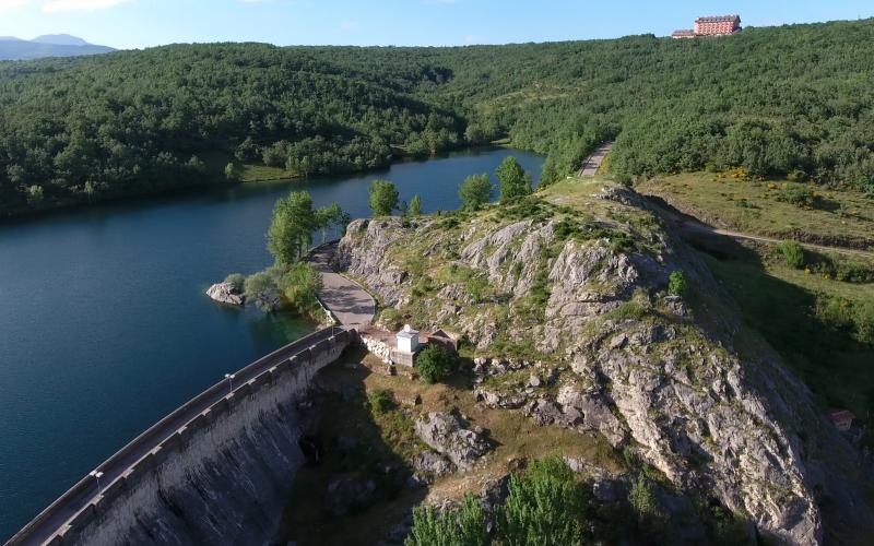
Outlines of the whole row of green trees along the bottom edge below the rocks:
<svg viewBox="0 0 874 546">
<path fill-rule="evenodd" d="M 676 539 L 646 473 L 624 503 L 599 506 L 563 460 L 550 458 L 513 474 L 506 500 L 491 512 L 472 495 L 454 508 L 415 508 L 405 545 L 664 544 Z M 687 523 L 701 525 L 709 544 L 753 544 L 743 523 L 719 506 L 701 507 L 698 521 Z"/>
</svg>

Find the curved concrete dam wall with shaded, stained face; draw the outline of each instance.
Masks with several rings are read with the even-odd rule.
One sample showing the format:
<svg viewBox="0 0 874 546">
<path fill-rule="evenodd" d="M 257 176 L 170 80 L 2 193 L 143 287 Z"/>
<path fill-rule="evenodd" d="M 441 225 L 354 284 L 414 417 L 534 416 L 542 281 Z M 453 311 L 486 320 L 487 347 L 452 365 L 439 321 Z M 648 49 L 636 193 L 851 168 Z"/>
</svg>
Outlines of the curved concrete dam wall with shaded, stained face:
<svg viewBox="0 0 874 546">
<path fill-rule="evenodd" d="M 247 378 L 233 394 L 226 394 L 225 385 L 226 395 L 105 484 L 99 496 L 59 529 L 45 527 L 58 521 L 64 497 L 10 544 L 269 542 L 277 531 L 292 478 L 304 462 L 298 440 L 310 380 L 355 337 L 354 331 L 327 329 L 303 346 L 286 347 L 294 349 L 291 356 L 282 354 L 275 364 L 267 363 L 268 368 Z M 86 487 L 85 482 L 68 491 L 68 503 L 76 495 L 81 498 L 75 490 Z"/>
</svg>

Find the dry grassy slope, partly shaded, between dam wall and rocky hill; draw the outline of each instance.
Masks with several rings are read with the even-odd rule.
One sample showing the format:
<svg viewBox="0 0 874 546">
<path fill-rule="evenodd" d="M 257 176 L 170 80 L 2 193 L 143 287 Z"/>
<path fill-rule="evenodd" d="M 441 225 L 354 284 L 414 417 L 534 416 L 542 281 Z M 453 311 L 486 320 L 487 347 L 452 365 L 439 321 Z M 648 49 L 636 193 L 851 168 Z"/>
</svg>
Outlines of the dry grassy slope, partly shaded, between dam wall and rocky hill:
<svg viewBox="0 0 874 546">
<path fill-rule="evenodd" d="M 510 472 L 512 462 L 520 459 L 568 455 L 613 473 L 624 472 L 622 458 L 598 435 L 539 427 L 521 411 L 482 407 L 476 404 L 469 379 L 464 377 L 453 378 L 451 384 L 427 385 L 404 377 L 371 373 L 357 365 L 365 358 L 373 357 L 356 354 L 330 365 L 317 376 L 319 385 L 329 392 L 326 400 L 330 401 L 319 425 L 318 437 L 322 444 L 331 446 L 339 436 L 355 436 L 371 444 L 385 464 L 403 462 L 421 450 L 418 441 L 404 431 L 409 424 L 398 425 L 398 414 L 402 411 L 373 416 L 361 403 L 367 393 L 388 390 L 400 403 L 421 396 L 421 404 L 404 406 L 413 416 L 426 412 L 460 412 L 472 426 L 487 430 L 496 444 L 495 451 L 471 472 L 444 477 L 427 489 L 405 488 L 391 499 L 377 501 L 344 518 L 333 518 L 323 508 L 326 487 L 338 472 L 338 462 L 331 459 L 338 455 L 326 453 L 320 466 L 304 467 L 295 476 L 292 501 L 281 527 L 282 541 L 296 541 L 302 546 L 376 543 L 403 521 L 412 507 L 426 499 L 459 499 L 465 492 L 479 491 L 489 479 Z M 356 396 L 342 402 L 350 392 Z"/>
</svg>

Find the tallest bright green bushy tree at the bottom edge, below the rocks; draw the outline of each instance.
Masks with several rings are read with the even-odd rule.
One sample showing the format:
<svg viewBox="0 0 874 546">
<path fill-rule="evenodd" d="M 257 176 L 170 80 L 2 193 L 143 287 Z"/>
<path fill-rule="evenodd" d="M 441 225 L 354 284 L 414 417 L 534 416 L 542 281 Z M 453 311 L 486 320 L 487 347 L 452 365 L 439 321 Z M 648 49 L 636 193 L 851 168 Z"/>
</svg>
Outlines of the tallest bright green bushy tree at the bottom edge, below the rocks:
<svg viewBox="0 0 874 546">
<path fill-rule="evenodd" d="M 507 545 L 580 544 L 586 511 L 586 495 L 568 465 L 558 458 L 535 461 L 510 478 L 498 536 Z"/>
</svg>

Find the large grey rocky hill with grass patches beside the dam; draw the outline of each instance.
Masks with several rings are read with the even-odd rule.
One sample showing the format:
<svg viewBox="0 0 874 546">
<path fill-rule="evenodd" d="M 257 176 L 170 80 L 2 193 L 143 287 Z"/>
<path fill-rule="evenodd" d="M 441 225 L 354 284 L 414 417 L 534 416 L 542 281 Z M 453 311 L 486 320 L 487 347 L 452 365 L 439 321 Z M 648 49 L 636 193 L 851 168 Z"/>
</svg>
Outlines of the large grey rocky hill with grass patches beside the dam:
<svg viewBox="0 0 874 546">
<path fill-rule="evenodd" d="M 462 333 L 481 404 L 599 431 L 754 534 L 852 541 L 871 514 L 858 453 L 631 190 L 570 180 L 475 214 L 356 221 L 336 262 L 386 328 Z"/>
</svg>

